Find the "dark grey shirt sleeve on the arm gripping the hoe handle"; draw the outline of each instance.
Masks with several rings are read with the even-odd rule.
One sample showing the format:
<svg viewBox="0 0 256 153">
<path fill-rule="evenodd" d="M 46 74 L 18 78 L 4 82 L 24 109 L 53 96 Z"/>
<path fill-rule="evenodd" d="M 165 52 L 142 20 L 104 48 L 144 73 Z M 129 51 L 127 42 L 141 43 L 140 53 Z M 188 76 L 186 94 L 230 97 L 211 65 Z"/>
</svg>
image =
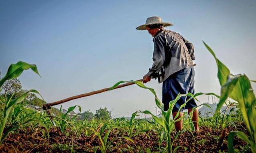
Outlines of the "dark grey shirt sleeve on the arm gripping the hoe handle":
<svg viewBox="0 0 256 153">
<path fill-rule="evenodd" d="M 151 76 L 152 73 L 160 70 L 165 61 L 165 41 L 161 37 L 154 38 L 154 53 L 153 53 L 153 65 L 149 69 L 147 76 Z"/>
</svg>

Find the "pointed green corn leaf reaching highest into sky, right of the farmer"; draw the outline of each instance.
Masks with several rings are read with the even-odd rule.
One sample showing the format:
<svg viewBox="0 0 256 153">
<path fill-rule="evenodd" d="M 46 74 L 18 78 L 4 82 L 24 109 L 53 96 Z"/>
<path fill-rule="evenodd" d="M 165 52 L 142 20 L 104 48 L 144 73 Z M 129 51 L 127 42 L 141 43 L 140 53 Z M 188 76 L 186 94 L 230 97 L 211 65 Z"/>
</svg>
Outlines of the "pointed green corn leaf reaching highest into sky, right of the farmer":
<svg viewBox="0 0 256 153">
<path fill-rule="evenodd" d="M 215 56 L 213 50 L 211 50 L 211 48 L 207 44 L 205 44 L 205 42 L 203 42 L 203 44 L 205 45 L 205 47 L 209 50 L 209 52 L 215 58 L 215 61 L 216 61 L 217 66 L 218 66 L 219 83 L 222 86 L 222 85 L 224 85 L 226 83 L 227 77 L 230 74 L 230 70 L 222 62 L 220 62 L 219 59 L 217 59 L 217 57 Z"/>
</svg>

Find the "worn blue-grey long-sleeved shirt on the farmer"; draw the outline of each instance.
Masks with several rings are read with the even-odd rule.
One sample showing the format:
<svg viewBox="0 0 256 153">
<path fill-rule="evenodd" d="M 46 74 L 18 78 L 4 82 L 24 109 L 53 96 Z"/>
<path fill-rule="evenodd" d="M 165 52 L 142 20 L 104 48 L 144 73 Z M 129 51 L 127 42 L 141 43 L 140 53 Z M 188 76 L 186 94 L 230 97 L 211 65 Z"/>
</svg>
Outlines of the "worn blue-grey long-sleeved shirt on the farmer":
<svg viewBox="0 0 256 153">
<path fill-rule="evenodd" d="M 171 30 L 162 29 L 153 38 L 154 53 L 153 65 L 147 76 L 157 72 L 164 67 L 164 76 L 161 82 L 165 81 L 171 74 L 182 70 L 186 66 L 193 66 L 194 46 L 180 34 Z"/>
</svg>

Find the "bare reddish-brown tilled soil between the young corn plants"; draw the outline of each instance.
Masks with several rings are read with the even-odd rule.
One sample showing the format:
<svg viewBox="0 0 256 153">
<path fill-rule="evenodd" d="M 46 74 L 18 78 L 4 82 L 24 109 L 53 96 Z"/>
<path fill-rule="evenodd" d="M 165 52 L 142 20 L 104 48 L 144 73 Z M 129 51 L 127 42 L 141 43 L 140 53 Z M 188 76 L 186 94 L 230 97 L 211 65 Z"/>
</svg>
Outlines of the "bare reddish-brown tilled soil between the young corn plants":
<svg viewBox="0 0 256 153">
<path fill-rule="evenodd" d="M 244 131 L 248 135 L 245 125 L 237 125 L 239 131 Z M 210 127 L 201 127 L 201 131 L 193 133 L 193 135 L 185 131 L 181 133 L 178 138 L 173 143 L 173 149 L 177 146 L 179 149 L 178 152 L 218 152 L 218 151 L 228 151 L 227 139 L 228 132 L 235 130 L 234 127 L 227 127 L 227 134 L 224 137 L 223 142 L 221 143 L 218 150 L 217 144 L 219 142 L 219 137 L 221 135 L 221 130 L 213 130 Z M 135 132 L 135 131 L 134 131 Z M 24 152 L 24 153 L 34 153 L 34 152 L 44 152 L 44 153 L 69 153 L 69 152 L 85 152 L 93 153 L 93 148 L 95 146 L 100 146 L 100 140 L 97 136 L 86 137 L 84 134 L 77 137 L 75 133 L 71 132 L 70 129 L 67 129 L 66 134 L 62 134 L 57 128 L 49 129 L 49 138 L 43 138 L 42 130 L 34 129 L 31 132 L 30 129 L 18 129 L 14 133 L 10 133 L 2 145 L 0 145 L 0 152 L 2 153 L 15 153 L 15 152 Z M 116 138 L 112 141 L 107 152 L 129 152 L 129 153 L 144 153 L 146 148 L 149 148 L 151 151 L 159 151 L 158 139 L 159 136 L 154 131 L 147 131 L 140 135 L 136 135 L 131 139 L 134 141 L 128 141 L 121 137 L 121 132 L 114 129 L 108 137 L 108 141 L 113 138 Z M 172 133 L 171 138 L 173 140 L 175 133 Z M 238 149 L 243 149 L 246 145 L 241 139 L 235 138 L 234 146 Z M 72 147 L 71 147 L 72 146 Z M 161 145 L 166 147 L 165 141 Z M 100 152 L 98 149 L 97 152 Z M 164 152 L 162 150 L 162 152 Z M 247 148 L 243 152 L 250 152 Z"/>
</svg>

